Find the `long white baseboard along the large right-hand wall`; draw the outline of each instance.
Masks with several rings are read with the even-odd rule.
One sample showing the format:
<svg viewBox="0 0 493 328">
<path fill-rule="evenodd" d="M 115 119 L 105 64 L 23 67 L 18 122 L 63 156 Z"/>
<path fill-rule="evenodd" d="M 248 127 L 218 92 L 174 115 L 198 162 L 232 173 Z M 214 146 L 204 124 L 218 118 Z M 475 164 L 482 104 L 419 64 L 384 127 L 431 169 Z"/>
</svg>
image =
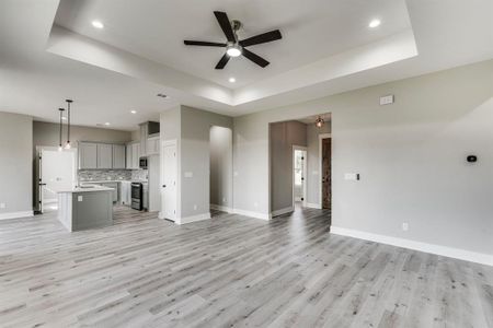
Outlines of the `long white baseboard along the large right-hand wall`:
<svg viewBox="0 0 493 328">
<path fill-rule="evenodd" d="M 331 233 L 335 235 L 348 236 L 358 239 L 365 239 L 370 242 L 376 242 L 380 244 L 387 244 L 431 254 L 436 254 L 440 256 L 457 258 L 466 261 L 482 263 L 486 266 L 493 266 L 493 256 L 482 253 L 475 253 L 470 250 L 465 250 L 460 248 L 452 248 L 447 246 L 427 244 L 422 242 L 415 242 L 411 239 L 390 237 L 385 235 L 378 235 L 372 233 L 367 233 L 363 231 L 331 226 Z"/>
</svg>

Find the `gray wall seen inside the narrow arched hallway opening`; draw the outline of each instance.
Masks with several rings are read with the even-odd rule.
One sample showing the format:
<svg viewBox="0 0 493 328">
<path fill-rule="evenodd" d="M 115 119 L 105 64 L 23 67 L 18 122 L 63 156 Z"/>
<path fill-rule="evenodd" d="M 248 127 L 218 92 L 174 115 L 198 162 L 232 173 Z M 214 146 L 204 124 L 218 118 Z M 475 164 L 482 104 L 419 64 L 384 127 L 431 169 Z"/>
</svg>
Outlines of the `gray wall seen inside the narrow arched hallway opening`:
<svg viewBox="0 0 493 328">
<path fill-rule="evenodd" d="M 210 203 L 232 208 L 232 131 L 230 128 L 211 127 Z"/>
</svg>

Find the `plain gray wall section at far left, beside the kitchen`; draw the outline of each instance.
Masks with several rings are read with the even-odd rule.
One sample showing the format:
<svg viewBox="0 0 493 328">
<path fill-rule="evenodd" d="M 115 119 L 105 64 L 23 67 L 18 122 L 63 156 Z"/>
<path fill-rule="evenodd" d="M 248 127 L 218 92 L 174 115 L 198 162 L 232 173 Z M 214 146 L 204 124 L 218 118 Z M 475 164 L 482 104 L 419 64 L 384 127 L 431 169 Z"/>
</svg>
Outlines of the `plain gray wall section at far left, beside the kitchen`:
<svg viewBox="0 0 493 328">
<path fill-rule="evenodd" d="M 0 112 L 0 214 L 33 210 L 33 119 Z"/>
</svg>

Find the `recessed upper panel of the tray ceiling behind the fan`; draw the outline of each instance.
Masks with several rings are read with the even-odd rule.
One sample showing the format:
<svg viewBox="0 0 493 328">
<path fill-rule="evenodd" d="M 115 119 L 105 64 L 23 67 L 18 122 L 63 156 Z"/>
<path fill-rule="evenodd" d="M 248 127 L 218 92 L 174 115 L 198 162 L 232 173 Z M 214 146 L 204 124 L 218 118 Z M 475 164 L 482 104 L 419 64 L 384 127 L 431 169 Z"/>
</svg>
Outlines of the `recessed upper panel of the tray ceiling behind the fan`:
<svg viewBox="0 0 493 328">
<path fill-rule="evenodd" d="M 249 47 L 271 61 L 262 69 L 250 60 L 232 59 L 215 70 L 223 48 L 187 47 L 184 39 L 226 42 L 213 12 L 225 11 L 244 27 L 246 38 L 279 28 L 283 39 Z M 383 25 L 371 30 L 368 23 Z M 91 25 L 104 22 L 104 30 Z M 366 45 L 410 28 L 403 0 L 62 0 L 56 24 L 146 59 L 221 84 L 239 87 L 280 72 Z M 234 77 L 236 83 L 228 79 Z"/>
</svg>

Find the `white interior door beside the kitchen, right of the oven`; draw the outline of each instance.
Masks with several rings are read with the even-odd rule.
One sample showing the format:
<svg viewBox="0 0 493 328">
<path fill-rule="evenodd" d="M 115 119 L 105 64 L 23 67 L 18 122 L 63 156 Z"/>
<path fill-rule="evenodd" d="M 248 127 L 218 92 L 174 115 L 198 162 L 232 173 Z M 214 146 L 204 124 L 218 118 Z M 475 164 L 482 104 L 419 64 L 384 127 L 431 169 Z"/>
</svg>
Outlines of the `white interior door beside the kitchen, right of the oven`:
<svg viewBox="0 0 493 328">
<path fill-rule="evenodd" d="M 163 143 L 162 145 L 162 186 L 161 186 L 161 208 L 162 218 L 176 220 L 176 199 L 177 199 L 177 163 L 176 163 L 176 143 Z"/>
</svg>

